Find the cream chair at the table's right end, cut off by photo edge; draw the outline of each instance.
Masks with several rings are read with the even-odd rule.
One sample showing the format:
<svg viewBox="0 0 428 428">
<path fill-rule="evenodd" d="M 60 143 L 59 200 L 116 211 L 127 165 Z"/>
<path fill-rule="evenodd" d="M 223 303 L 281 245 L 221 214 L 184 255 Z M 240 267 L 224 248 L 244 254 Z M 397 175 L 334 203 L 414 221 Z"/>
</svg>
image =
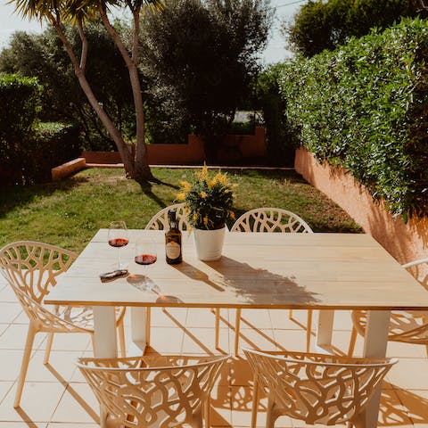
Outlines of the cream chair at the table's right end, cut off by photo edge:
<svg viewBox="0 0 428 428">
<path fill-rule="evenodd" d="M 403 268 L 416 268 L 418 266 L 428 264 L 428 259 L 419 259 L 411 261 Z M 428 276 L 421 279 L 421 284 L 427 285 Z M 364 336 L 366 334 L 367 325 L 366 310 L 353 310 L 352 318 L 352 333 L 350 335 L 350 348 L 348 355 L 354 353 L 357 334 Z M 425 345 L 428 355 L 428 312 L 426 311 L 391 311 L 391 321 L 389 325 L 388 340 L 391 342 L 406 342 L 413 344 Z"/>
</svg>

